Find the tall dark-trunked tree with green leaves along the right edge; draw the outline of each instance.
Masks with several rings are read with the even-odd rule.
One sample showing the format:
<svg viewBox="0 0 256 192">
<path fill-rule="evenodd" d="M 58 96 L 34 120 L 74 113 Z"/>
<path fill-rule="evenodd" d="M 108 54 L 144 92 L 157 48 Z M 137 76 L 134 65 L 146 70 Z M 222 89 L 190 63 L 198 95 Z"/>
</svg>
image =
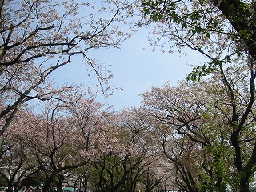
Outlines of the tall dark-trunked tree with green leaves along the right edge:
<svg viewBox="0 0 256 192">
<path fill-rule="evenodd" d="M 245 143 L 249 140 L 255 146 L 254 140 L 246 140 L 244 135 L 245 131 L 251 131 L 249 124 L 255 121 L 255 2 L 150 0 L 143 1 L 142 5 L 144 13 L 149 15 L 149 21 L 158 23 L 154 30 L 154 35 L 158 35 L 155 46 L 169 49 L 166 47 L 168 42 L 172 49 L 176 47 L 182 51 L 182 48 L 189 47 L 206 56 L 206 63 L 195 66 L 187 79 L 199 80 L 215 72 L 222 79 L 221 87 L 229 101 L 225 105 L 230 109 L 230 113 L 225 113 L 228 121 L 222 126 L 226 130 L 232 128 L 229 142 L 234 147 L 233 162 L 238 172 L 238 189 L 249 191 L 248 182 L 254 173 L 256 147 L 250 148 L 250 155 L 245 155 L 243 151 L 247 149 Z M 232 67 L 234 69 L 230 70 Z M 194 106 L 194 109 L 199 106 Z M 224 106 L 219 109 L 222 113 Z M 189 126 L 187 128 L 190 130 Z"/>
</svg>

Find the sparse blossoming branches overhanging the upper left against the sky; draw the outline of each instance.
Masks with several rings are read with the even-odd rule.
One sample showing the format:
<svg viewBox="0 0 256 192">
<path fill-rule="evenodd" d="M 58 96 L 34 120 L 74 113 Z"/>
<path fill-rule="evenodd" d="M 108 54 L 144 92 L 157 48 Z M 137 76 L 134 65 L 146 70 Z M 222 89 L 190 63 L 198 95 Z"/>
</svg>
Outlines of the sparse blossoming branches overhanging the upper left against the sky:
<svg viewBox="0 0 256 192">
<path fill-rule="evenodd" d="M 84 63 L 88 74 L 95 75 L 105 90 L 112 74 L 88 52 L 118 47 L 130 37 L 118 25 L 132 13 L 131 8 L 126 1 L 2 1 L 0 135 L 24 103 L 59 99 L 56 93 L 70 89 L 67 85 L 54 87 L 50 80 L 50 74 L 69 63 Z"/>
</svg>

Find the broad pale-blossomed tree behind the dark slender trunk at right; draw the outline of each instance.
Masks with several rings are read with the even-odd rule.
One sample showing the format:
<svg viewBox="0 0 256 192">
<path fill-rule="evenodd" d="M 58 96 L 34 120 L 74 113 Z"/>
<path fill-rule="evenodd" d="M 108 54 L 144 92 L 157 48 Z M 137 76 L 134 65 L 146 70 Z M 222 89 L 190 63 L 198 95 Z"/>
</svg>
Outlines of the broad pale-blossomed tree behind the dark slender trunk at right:
<svg viewBox="0 0 256 192">
<path fill-rule="evenodd" d="M 229 80 L 236 90 L 238 124 L 232 122 L 233 100 L 218 73 L 207 81 L 180 82 L 177 87 L 166 84 L 143 94 L 148 112 L 162 122 L 155 126 L 162 152 L 183 174 L 179 183 L 186 183 L 189 191 L 224 191 L 227 186 L 235 191 L 249 191 L 255 169 L 255 107 L 251 106 L 246 114 L 250 79 L 242 73 L 242 68 L 237 70 L 233 66 L 226 74 L 232 74 Z M 245 81 L 249 81 L 247 87 Z M 247 118 L 242 122 L 245 114 Z M 234 139 L 239 123 L 243 123 L 242 130 Z M 234 145 L 238 145 L 240 151 Z M 197 162 L 191 161 L 190 156 Z"/>
</svg>

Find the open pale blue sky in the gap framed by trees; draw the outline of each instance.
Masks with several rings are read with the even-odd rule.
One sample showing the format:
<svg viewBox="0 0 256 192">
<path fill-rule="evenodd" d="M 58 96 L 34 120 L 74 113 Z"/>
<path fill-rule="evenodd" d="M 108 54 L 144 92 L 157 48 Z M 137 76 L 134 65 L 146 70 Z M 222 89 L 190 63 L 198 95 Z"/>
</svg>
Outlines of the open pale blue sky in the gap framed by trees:
<svg viewBox="0 0 256 192">
<path fill-rule="evenodd" d="M 191 71 L 191 67 L 186 65 L 187 62 L 198 64 L 204 60 L 195 51 L 187 51 L 187 55 L 182 57 L 178 53 L 162 53 L 160 48 L 152 52 L 147 40 L 148 32 L 146 29 L 139 30 L 123 42 L 120 49 L 95 50 L 89 55 L 98 62 L 110 65 L 108 70 L 114 74 L 110 82 L 123 89 L 115 90 L 108 98 L 99 98 L 101 102 L 114 105 L 115 110 L 139 106 L 142 98 L 138 94 L 150 90 L 152 86 L 162 86 L 165 82 L 175 86 L 178 80 L 184 79 Z M 62 74 L 62 81 L 88 80 L 85 67 L 79 64 L 66 66 L 62 71 L 58 71 L 57 79 L 59 72 Z M 90 83 L 88 85 L 92 86 Z"/>
</svg>

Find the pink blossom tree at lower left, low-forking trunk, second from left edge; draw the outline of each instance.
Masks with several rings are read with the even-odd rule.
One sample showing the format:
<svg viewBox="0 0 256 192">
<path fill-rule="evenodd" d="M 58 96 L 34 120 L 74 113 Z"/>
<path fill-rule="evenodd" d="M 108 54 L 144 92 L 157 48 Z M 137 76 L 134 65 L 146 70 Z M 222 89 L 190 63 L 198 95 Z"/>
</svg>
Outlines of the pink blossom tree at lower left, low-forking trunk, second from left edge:
<svg viewBox="0 0 256 192">
<path fill-rule="evenodd" d="M 76 139 L 80 140 L 81 134 L 72 129 L 68 118 L 60 114 L 61 106 L 50 106 L 42 115 L 22 115 L 14 118 L 14 123 L 10 124 L 10 130 L 13 131 L 10 137 L 18 138 L 33 154 L 33 167 L 38 167 L 41 175 L 39 179 L 44 182 L 42 191 L 52 190 L 53 184 L 62 184 L 65 178 L 62 175 L 86 163 L 86 158 L 80 153 L 83 148 L 76 142 Z M 13 143 L 15 145 L 15 140 Z M 20 162 L 27 163 L 24 160 Z M 21 169 L 24 168 L 21 166 Z"/>
</svg>

